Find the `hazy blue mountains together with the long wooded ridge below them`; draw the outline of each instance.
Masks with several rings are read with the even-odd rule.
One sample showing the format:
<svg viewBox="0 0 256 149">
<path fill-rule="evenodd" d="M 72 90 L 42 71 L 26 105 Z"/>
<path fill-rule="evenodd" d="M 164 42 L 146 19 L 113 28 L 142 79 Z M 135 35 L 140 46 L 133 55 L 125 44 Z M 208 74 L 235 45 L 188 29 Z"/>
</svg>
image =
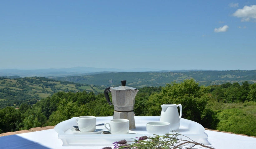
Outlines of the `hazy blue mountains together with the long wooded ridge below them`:
<svg viewBox="0 0 256 149">
<path fill-rule="evenodd" d="M 195 79 L 201 85 L 219 85 L 227 82 L 244 81 L 256 83 L 256 70 L 158 70 L 140 69 L 140 72 L 126 72 L 111 68 L 74 67 L 68 69 L 39 69 L 39 70 L 0 70 L 0 76 L 10 79 L 19 77 L 46 77 L 59 81 L 69 81 L 80 84 L 98 85 L 101 87 L 120 86 L 121 80 L 127 80 L 127 86 L 142 88 L 145 86 L 165 86 L 173 81 Z M 148 71 L 146 71 L 148 70 Z"/>
</svg>

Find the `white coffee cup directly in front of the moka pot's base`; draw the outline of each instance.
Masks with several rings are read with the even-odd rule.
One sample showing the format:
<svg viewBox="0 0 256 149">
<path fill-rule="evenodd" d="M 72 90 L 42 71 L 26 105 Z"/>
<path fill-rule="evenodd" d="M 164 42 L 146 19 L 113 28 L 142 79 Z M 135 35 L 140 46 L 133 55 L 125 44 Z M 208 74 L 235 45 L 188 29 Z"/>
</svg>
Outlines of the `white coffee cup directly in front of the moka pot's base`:
<svg viewBox="0 0 256 149">
<path fill-rule="evenodd" d="M 106 127 L 109 125 L 110 129 Z M 113 119 L 110 120 L 110 124 L 106 123 L 105 128 L 111 132 L 111 134 L 128 134 L 129 133 L 129 120 L 127 119 Z"/>
</svg>

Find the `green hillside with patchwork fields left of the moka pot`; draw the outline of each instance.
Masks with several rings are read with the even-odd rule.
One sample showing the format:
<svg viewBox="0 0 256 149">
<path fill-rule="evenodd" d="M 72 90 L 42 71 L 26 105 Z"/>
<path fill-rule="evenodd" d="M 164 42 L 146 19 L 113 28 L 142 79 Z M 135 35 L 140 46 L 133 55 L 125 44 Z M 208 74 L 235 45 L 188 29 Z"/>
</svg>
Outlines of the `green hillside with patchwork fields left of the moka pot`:
<svg viewBox="0 0 256 149">
<path fill-rule="evenodd" d="M 95 85 L 57 81 L 44 77 L 0 78 L 0 108 L 19 106 L 26 101 L 36 103 L 57 92 L 103 92 L 105 88 Z"/>
</svg>

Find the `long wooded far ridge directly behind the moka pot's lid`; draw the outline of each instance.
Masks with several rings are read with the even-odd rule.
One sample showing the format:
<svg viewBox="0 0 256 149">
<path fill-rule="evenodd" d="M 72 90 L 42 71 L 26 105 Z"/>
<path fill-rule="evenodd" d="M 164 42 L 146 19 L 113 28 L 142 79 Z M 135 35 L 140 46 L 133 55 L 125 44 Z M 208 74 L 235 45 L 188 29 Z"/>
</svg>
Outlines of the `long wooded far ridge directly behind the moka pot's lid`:
<svg viewBox="0 0 256 149">
<path fill-rule="evenodd" d="M 227 71 L 189 71 L 189 72 L 117 72 L 70 77 L 52 77 L 61 81 L 81 84 L 94 84 L 102 87 L 119 86 L 121 80 L 127 80 L 127 86 L 142 88 L 145 86 L 165 86 L 173 81 L 195 79 L 200 85 L 219 85 L 224 83 L 241 84 L 248 81 L 256 83 L 256 70 L 227 70 Z"/>
</svg>

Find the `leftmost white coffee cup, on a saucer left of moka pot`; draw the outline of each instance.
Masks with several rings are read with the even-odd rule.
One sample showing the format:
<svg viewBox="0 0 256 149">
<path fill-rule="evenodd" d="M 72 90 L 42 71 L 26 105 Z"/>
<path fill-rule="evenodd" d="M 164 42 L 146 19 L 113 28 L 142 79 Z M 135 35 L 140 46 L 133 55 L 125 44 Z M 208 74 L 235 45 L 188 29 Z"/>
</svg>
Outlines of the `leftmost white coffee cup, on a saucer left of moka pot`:
<svg viewBox="0 0 256 149">
<path fill-rule="evenodd" d="M 76 118 L 76 122 L 81 132 L 93 132 L 96 129 L 95 116 L 80 116 Z"/>
</svg>

